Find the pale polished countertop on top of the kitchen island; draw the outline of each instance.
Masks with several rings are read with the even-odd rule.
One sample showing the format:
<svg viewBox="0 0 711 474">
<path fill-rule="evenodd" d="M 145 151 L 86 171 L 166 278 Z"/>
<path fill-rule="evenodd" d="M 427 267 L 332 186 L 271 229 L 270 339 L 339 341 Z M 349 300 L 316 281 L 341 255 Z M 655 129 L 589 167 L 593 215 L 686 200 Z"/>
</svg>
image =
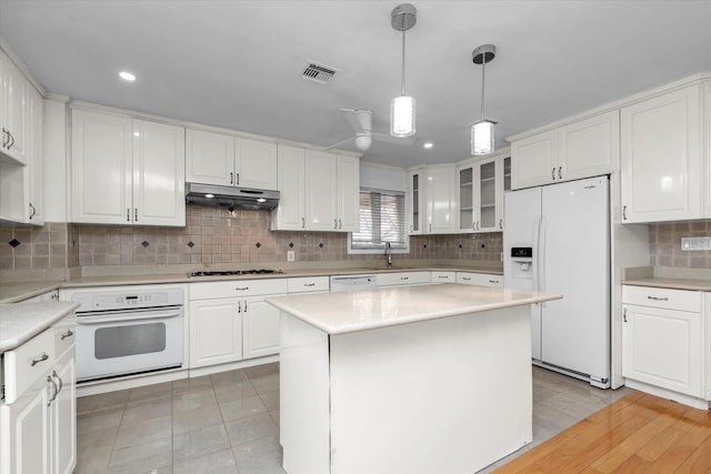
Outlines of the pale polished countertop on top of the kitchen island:
<svg viewBox="0 0 711 474">
<path fill-rule="evenodd" d="M 561 297 L 502 288 L 432 284 L 274 296 L 267 302 L 333 335 Z"/>
</svg>

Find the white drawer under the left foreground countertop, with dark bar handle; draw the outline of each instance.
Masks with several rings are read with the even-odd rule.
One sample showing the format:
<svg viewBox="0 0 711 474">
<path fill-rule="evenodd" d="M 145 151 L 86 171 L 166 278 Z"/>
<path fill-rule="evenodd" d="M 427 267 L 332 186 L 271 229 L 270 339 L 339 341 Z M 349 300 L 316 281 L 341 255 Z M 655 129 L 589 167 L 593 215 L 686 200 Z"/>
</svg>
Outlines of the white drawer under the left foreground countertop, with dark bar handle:
<svg viewBox="0 0 711 474">
<path fill-rule="evenodd" d="M 4 403 L 13 403 L 54 364 L 54 329 L 50 327 L 3 354 Z"/>
</svg>

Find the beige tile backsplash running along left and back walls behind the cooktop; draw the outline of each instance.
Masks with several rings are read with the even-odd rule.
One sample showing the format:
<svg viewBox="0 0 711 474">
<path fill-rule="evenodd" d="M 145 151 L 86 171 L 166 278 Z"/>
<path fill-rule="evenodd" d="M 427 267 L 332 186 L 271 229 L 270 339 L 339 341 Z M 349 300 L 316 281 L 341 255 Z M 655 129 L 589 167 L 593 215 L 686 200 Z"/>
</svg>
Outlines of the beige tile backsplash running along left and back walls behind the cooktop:
<svg viewBox="0 0 711 474">
<path fill-rule="evenodd" d="M 44 270 L 106 265 L 272 268 L 286 262 L 380 261 L 348 253 L 348 234 L 270 230 L 267 211 L 187 208 L 184 228 L 48 223 L 0 228 L 0 270 Z M 13 246 L 14 244 L 14 246 Z M 500 261 L 501 233 L 415 235 L 410 253 L 394 259 Z M 7 272 L 6 272 L 7 273 Z M 160 269 L 157 273 L 161 273 Z"/>
</svg>

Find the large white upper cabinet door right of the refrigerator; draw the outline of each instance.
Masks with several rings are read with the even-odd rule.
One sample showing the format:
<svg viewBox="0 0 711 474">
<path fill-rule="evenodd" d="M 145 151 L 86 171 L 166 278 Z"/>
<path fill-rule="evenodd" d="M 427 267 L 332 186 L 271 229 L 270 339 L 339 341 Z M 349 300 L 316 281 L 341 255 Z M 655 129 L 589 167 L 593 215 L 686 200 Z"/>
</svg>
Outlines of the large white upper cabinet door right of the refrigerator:
<svg viewBox="0 0 711 474">
<path fill-rule="evenodd" d="M 699 219 L 700 87 L 621 110 L 622 222 Z"/>
</svg>

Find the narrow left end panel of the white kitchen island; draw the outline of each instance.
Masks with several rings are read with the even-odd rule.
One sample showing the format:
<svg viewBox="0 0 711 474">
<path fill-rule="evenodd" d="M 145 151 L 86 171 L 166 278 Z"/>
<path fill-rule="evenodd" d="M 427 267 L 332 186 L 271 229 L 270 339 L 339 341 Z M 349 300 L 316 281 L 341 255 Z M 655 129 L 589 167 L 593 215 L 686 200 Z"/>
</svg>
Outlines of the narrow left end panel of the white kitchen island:
<svg viewBox="0 0 711 474">
<path fill-rule="evenodd" d="M 280 314 L 280 443 L 289 474 L 328 473 L 330 463 L 328 334 Z"/>
</svg>

